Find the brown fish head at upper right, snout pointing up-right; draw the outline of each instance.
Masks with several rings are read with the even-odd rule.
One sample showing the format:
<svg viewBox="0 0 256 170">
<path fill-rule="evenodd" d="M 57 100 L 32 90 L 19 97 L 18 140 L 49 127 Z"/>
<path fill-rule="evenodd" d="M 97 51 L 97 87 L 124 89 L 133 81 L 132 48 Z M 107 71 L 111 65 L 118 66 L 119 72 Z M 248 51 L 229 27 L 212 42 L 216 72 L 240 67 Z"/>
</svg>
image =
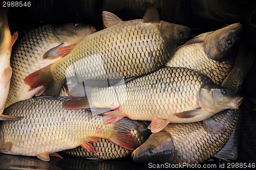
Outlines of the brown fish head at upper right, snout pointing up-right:
<svg viewBox="0 0 256 170">
<path fill-rule="evenodd" d="M 243 26 L 234 23 L 210 33 L 204 39 L 204 50 L 207 56 L 216 61 L 233 59 L 241 39 Z"/>
</svg>

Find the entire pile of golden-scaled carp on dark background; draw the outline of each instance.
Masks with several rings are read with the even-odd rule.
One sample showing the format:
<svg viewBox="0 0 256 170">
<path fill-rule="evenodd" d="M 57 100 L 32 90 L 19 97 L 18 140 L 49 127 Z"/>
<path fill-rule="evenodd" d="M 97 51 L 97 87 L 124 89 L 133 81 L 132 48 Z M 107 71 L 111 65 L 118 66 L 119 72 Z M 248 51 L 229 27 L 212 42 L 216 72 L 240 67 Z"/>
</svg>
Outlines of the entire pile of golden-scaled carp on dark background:
<svg viewBox="0 0 256 170">
<path fill-rule="evenodd" d="M 254 58 L 240 23 L 190 38 L 154 8 L 103 11 L 103 30 L 45 25 L 15 42 L 6 9 L 0 19 L 1 153 L 195 164 L 236 127 Z"/>
</svg>

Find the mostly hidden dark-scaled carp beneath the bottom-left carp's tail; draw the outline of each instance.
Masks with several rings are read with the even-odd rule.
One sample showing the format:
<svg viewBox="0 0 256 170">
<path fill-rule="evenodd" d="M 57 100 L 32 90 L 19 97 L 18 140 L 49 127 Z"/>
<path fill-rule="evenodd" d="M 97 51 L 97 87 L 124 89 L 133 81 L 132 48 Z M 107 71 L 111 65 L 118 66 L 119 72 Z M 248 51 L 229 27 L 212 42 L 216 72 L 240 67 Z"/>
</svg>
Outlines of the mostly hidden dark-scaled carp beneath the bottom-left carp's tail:
<svg viewBox="0 0 256 170">
<path fill-rule="evenodd" d="M 142 143 L 146 141 L 146 139 L 151 135 L 151 131 L 147 129 L 145 123 L 140 122 L 138 128 L 131 130 L 131 134 L 137 139 L 136 148 L 139 147 Z M 124 149 L 119 145 L 110 142 L 104 138 L 98 138 L 97 142 L 92 142 L 94 150 L 98 153 L 97 155 L 92 152 L 88 152 L 82 147 L 77 147 L 75 149 L 61 151 L 60 155 L 67 155 L 73 157 L 81 157 L 92 160 L 113 160 L 113 159 L 121 159 L 128 156 L 131 156 L 132 151 Z"/>
</svg>

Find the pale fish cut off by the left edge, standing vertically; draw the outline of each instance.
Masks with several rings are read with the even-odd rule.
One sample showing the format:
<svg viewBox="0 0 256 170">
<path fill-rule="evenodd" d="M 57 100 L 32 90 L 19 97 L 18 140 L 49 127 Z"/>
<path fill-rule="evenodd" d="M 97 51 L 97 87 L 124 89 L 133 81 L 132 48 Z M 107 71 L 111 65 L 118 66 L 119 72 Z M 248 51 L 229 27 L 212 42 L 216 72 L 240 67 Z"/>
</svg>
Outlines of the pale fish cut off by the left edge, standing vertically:
<svg viewBox="0 0 256 170">
<path fill-rule="evenodd" d="M 12 76 L 12 67 L 10 66 L 12 46 L 18 37 L 17 32 L 13 36 L 11 35 L 7 11 L 8 9 L 5 8 L 0 9 L 0 120 L 18 120 L 22 117 L 2 114 L 5 109 Z"/>
</svg>

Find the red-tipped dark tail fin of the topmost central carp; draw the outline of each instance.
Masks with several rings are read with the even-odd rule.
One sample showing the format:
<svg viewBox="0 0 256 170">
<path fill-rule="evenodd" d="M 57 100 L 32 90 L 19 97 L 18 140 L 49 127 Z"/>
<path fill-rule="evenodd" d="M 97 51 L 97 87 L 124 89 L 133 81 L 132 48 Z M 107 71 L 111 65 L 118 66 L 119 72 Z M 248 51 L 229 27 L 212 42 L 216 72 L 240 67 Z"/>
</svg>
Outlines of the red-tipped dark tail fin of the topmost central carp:
<svg viewBox="0 0 256 170">
<path fill-rule="evenodd" d="M 24 82 L 30 86 L 30 89 L 45 86 L 44 95 L 59 95 L 62 83 L 57 83 L 53 80 L 50 72 L 51 64 L 41 68 L 32 74 L 28 75 Z"/>
</svg>

